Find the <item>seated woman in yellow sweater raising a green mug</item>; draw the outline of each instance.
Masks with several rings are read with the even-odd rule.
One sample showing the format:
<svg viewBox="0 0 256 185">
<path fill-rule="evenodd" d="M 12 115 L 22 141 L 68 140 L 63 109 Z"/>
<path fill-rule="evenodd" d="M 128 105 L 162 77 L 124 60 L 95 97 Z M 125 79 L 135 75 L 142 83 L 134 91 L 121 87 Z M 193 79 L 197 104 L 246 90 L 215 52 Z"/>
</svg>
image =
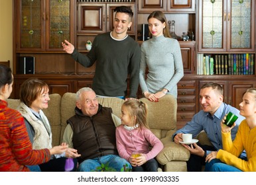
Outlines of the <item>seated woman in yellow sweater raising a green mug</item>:
<svg viewBox="0 0 256 185">
<path fill-rule="evenodd" d="M 206 161 L 211 161 L 207 163 L 206 171 L 256 171 L 256 88 L 247 89 L 245 94 L 243 94 L 243 101 L 239 106 L 240 114 L 241 116 L 245 116 L 245 120 L 239 125 L 233 143 L 231 141 L 230 130 L 235 124 L 229 128 L 223 124 L 224 120 L 222 120 L 222 143 L 224 150 L 220 149 L 219 151 L 210 153 L 206 157 Z M 239 158 L 239 155 L 244 149 L 247 154 L 246 160 Z"/>
</svg>

